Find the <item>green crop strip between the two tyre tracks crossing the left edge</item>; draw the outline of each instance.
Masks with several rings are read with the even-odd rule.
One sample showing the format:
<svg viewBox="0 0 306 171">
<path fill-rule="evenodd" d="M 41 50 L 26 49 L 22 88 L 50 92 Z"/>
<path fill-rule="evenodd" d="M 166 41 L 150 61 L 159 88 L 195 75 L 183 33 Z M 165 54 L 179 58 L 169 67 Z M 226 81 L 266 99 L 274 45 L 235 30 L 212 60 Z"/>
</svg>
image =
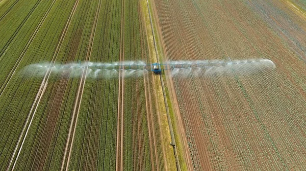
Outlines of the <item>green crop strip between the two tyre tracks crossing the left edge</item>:
<svg viewBox="0 0 306 171">
<path fill-rule="evenodd" d="M 3 71 L 0 74 L 1 88 L 0 93 L 6 88 L 7 83 L 11 80 L 12 75 L 15 73 L 19 62 L 23 59 L 25 52 L 29 49 L 30 44 L 36 37 L 38 31 L 45 22 L 46 17 L 50 13 L 55 1 L 50 2 L 37 2 L 36 8 L 32 8 L 31 12 L 23 19 L 23 24 L 20 24 L 18 29 L 14 31 L 11 38 L 6 42 L 5 47 L 2 49 L 0 60 L 0 69 Z M 27 13 L 25 13 L 27 14 Z M 24 14 L 24 15 L 25 15 Z M 24 16 L 18 16 L 20 18 Z M 3 23 L 4 25 L 8 23 Z M 6 30 L 4 30 L 6 31 Z"/>
</svg>

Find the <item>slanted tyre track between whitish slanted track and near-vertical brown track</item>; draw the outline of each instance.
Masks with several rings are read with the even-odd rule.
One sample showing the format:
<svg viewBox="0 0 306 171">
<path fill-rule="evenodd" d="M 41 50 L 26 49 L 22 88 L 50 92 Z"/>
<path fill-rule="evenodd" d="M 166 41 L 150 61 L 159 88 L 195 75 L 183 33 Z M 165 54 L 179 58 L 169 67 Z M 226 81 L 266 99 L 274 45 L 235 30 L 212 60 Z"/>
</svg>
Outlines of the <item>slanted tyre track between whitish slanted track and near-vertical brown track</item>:
<svg viewBox="0 0 306 171">
<path fill-rule="evenodd" d="M 89 61 L 91 53 L 92 53 L 92 45 L 93 45 L 93 40 L 94 40 L 94 36 L 95 36 L 95 32 L 96 32 L 97 20 L 98 20 L 99 14 L 100 14 L 100 7 L 101 7 L 101 0 L 99 0 L 97 10 L 96 10 L 96 14 L 95 14 L 93 27 L 91 29 L 91 35 L 90 35 L 90 39 L 89 39 L 89 45 L 88 45 L 88 49 L 87 49 L 85 62 Z M 71 124 L 70 124 L 70 127 L 69 127 L 69 133 L 68 133 L 68 138 L 67 138 L 67 141 L 66 141 L 66 147 L 65 147 L 64 157 L 63 157 L 63 160 L 62 160 L 61 170 L 64 169 L 67 150 L 68 150 L 68 145 L 69 145 L 69 142 L 70 142 L 70 136 L 71 136 L 71 131 L 72 131 L 72 127 L 73 127 L 71 144 L 70 144 L 70 148 L 69 148 L 69 153 L 68 153 L 67 164 L 66 164 L 66 169 L 65 170 L 68 170 L 68 168 L 69 168 L 69 162 L 70 162 L 70 158 L 71 158 L 71 152 L 72 152 L 72 147 L 73 147 L 73 142 L 74 142 L 75 130 L 77 129 L 78 117 L 79 117 L 79 113 L 80 113 L 81 102 L 82 102 L 82 97 L 83 97 L 83 92 L 84 92 L 84 87 L 85 87 L 85 82 L 86 82 L 87 69 L 88 69 L 88 65 L 85 67 L 85 69 L 82 72 L 82 77 L 81 77 L 80 85 L 79 85 L 79 88 L 78 88 L 77 98 L 75 100 L 75 104 L 74 104 L 74 108 L 73 108 L 72 119 L 71 119 Z M 77 114 L 76 117 L 75 117 L 75 114 Z M 74 121 L 74 117 L 75 117 L 75 121 Z"/>
</svg>

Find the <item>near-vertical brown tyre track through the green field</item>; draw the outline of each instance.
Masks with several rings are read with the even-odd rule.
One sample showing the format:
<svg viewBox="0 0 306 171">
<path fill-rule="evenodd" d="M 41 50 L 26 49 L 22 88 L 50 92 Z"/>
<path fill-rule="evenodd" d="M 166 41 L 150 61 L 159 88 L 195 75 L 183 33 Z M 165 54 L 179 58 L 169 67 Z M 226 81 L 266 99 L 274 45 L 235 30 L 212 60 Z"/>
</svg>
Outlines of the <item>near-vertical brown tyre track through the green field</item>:
<svg viewBox="0 0 306 171">
<path fill-rule="evenodd" d="M 120 65 L 123 60 L 124 60 L 124 0 L 122 1 L 122 5 L 121 5 L 121 31 L 120 31 L 120 55 L 119 55 Z M 121 67 L 122 67 L 121 69 L 123 70 L 123 66 Z M 124 75 L 123 75 L 122 70 L 119 70 L 119 86 L 118 86 L 116 170 L 123 170 L 123 126 L 124 126 L 123 125 L 123 105 L 124 105 L 123 104 L 123 92 L 124 92 L 123 77 Z M 120 131 L 119 131 L 119 128 L 120 128 Z"/>
</svg>

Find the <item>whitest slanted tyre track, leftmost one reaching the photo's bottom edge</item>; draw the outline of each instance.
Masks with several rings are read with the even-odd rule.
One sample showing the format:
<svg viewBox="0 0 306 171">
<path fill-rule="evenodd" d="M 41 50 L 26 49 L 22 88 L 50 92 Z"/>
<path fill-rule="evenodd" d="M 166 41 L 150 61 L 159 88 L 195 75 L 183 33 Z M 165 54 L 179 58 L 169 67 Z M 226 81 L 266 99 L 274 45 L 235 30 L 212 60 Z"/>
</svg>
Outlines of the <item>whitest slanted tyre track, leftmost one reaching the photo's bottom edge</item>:
<svg viewBox="0 0 306 171">
<path fill-rule="evenodd" d="M 58 55 L 58 52 L 59 52 L 59 49 L 60 49 L 60 47 L 61 47 L 61 45 L 62 45 L 62 42 L 63 42 L 63 40 L 64 40 L 64 37 L 66 36 L 67 29 L 68 29 L 68 27 L 69 27 L 69 25 L 70 25 L 70 23 L 71 23 L 71 18 L 72 18 L 72 16 L 74 15 L 75 9 L 77 9 L 78 4 L 79 4 L 79 0 L 77 0 L 77 1 L 74 3 L 73 9 L 72 9 L 72 11 L 71 11 L 71 13 L 70 13 L 70 16 L 69 16 L 68 20 L 67 20 L 67 23 L 66 23 L 66 25 L 65 25 L 65 28 L 64 28 L 64 30 L 62 31 L 62 35 L 61 35 L 60 41 L 59 41 L 58 46 L 57 46 L 57 48 L 56 48 L 56 50 L 55 50 L 55 53 L 54 53 L 54 55 L 53 55 L 52 62 L 50 63 L 50 65 L 51 65 L 52 63 L 53 63 L 53 64 L 55 63 L 55 59 L 56 59 L 56 57 L 57 57 L 57 55 Z M 52 69 L 51 69 L 51 70 L 52 70 Z M 48 79 L 49 79 L 49 77 L 50 77 L 51 70 L 48 69 L 47 72 L 46 72 L 45 75 L 44 75 L 44 78 L 43 78 L 43 80 L 42 80 L 42 82 L 41 82 L 41 85 L 40 85 L 40 87 L 39 87 L 38 93 L 36 94 L 34 103 L 33 103 L 32 107 L 31 107 L 30 112 L 29 112 L 27 121 L 25 121 L 25 124 L 24 124 L 24 126 L 23 126 L 23 128 L 22 128 L 21 134 L 20 134 L 20 136 L 19 136 L 18 142 L 17 142 L 17 144 L 16 144 L 15 150 L 14 150 L 14 152 L 13 152 L 13 155 L 12 155 L 12 157 L 11 157 L 11 160 L 10 160 L 10 163 L 9 163 L 9 165 L 8 165 L 8 167 L 7 167 L 7 170 L 9 170 L 10 167 L 11 167 L 11 164 L 12 164 L 14 158 L 15 158 L 15 153 L 16 153 L 16 151 L 18 150 L 19 143 L 20 143 L 20 141 L 21 141 L 21 139 L 22 139 L 23 132 L 24 132 L 24 130 L 25 130 L 26 127 L 27 127 L 27 131 L 26 131 L 25 134 L 24 134 L 22 143 L 21 143 L 21 145 L 20 145 L 19 151 L 18 151 L 17 156 L 16 156 L 16 159 L 15 159 L 15 161 L 14 161 L 14 165 L 13 165 L 13 167 L 12 167 L 12 170 L 14 170 L 14 167 L 15 167 L 15 165 L 16 165 L 16 162 L 17 162 L 17 160 L 18 160 L 19 154 L 20 154 L 20 152 L 21 152 L 23 143 L 24 143 L 24 141 L 25 141 L 25 138 L 27 138 L 28 131 L 29 131 L 30 127 L 31 127 L 33 118 L 34 118 L 35 113 L 36 113 L 36 111 L 37 111 L 37 108 L 38 108 L 38 106 L 39 106 L 39 102 L 40 102 L 40 100 L 41 100 L 41 98 L 42 98 L 42 96 L 43 96 L 43 94 L 44 94 L 44 91 L 45 91 L 45 89 L 46 89 L 46 87 L 47 87 L 47 83 L 48 83 Z M 33 111 L 33 114 L 32 114 L 32 111 Z M 29 119 L 30 119 L 30 117 L 31 117 L 31 114 L 32 114 L 32 118 L 31 118 L 31 121 L 30 121 L 30 123 L 29 123 Z M 28 125 L 28 123 L 29 123 L 29 125 Z M 28 125 L 28 126 L 27 126 L 27 125 Z"/>
</svg>

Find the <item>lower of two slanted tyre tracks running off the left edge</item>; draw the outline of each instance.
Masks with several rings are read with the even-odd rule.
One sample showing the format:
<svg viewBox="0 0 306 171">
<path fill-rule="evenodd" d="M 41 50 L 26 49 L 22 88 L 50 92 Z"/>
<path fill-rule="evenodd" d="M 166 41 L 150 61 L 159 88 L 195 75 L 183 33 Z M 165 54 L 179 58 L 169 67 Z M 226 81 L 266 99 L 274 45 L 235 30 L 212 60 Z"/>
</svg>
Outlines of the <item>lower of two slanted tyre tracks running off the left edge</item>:
<svg viewBox="0 0 306 171">
<path fill-rule="evenodd" d="M 50 10 L 52 9 L 53 5 L 55 4 L 56 0 L 53 0 L 52 4 L 50 5 L 50 7 L 48 8 L 47 12 L 45 13 L 45 15 L 42 17 L 42 19 L 40 20 L 38 26 L 36 27 L 35 31 L 33 32 L 30 40 L 28 41 L 27 45 L 25 45 L 25 47 L 23 48 L 23 51 L 21 52 L 21 54 L 19 55 L 16 63 L 13 66 L 13 69 L 10 71 L 8 77 L 6 78 L 4 84 L 1 86 L 0 88 L 0 97 L 3 94 L 4 90 L 6 89 L 7 85 L 9 84 L 9 82 L 11 81 L 13 75 L 15 74 L 17 67 L 19 66 L 21 60 L 23 59 L 25 53 L 28 51 L 28 48 L 30 46 L 30 44 L 32 43 L 32 41 L 34 40 L 34 38 L 37 35 L 37 32 L 39 31 L 41 25 L 44 23 L 45 19 L 47 18 L 47 16 L 49 15 Z"/>
</svg>

